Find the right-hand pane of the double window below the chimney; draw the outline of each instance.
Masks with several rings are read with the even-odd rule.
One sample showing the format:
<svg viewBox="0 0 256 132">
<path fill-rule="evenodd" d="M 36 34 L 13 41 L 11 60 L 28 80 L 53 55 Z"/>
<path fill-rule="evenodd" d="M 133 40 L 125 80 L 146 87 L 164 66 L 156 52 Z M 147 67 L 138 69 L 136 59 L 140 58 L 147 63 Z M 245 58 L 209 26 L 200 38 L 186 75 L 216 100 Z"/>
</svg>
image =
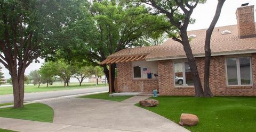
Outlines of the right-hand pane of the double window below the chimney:
<svg viewBox="0 0 256 132">
<path fill-rule="evenodd" d="M 251 84 L 250 57 L 239 58 L 239 64 L 240 64 L 241 84 L 242 85 Z"/>
</svg>

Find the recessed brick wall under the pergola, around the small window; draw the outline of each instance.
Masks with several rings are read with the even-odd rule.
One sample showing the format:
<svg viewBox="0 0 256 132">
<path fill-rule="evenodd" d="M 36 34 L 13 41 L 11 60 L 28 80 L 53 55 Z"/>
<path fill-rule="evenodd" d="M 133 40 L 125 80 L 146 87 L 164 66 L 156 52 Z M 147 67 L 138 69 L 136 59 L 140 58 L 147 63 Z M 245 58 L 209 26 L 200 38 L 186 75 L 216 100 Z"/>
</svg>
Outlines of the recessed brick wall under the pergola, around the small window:
<svg viewBox="0 0 256 132">
<path fill-rule="evenodd" d="M 152 92 L 158 90 L 157 79 L 133 79 L 132 63 L 117 64 L 118 92 Z"/>
</svg>

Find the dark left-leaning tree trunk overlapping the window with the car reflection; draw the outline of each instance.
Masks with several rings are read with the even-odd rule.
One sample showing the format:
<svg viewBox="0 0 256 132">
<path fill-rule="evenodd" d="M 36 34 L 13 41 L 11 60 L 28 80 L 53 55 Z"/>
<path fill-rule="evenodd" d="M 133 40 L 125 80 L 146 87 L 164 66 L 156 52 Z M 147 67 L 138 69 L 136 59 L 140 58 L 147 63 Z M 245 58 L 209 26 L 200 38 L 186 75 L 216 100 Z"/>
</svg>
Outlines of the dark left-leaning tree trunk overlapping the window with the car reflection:
<svg viewBox="0 0 256 132">
<path fill-rule="evenodd" d="M 201 83 L 199 73 L 197 70 L 196 59 L 195 59 L 193 52 L 191 50 L 191 47 L 189 45 L 189 40 L 188 40 L 186 31 L 181 32 L 181 38 L 183 41 L 183 43 L 182 43 L 183 49 L 186 52 L 188 64 L 189 64 L 190 70 L 193 75 L 193 82 L 194 82 L 194 86 L 195 86 L 195 96 L 202 97 L 202 96 L 204 96 L 203 87 L 202 87 L 202 83 Z"/>
</svg>

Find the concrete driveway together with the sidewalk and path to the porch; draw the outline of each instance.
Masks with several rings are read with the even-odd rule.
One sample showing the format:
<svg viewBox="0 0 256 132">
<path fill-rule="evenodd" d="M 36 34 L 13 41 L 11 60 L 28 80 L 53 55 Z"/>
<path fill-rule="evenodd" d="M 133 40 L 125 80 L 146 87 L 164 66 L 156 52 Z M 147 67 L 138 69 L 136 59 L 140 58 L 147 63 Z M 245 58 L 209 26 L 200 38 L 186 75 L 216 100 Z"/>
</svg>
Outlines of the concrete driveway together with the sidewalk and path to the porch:
<svg viewBox="0 0 256 132">
<path fill-rule="evenodd" d="M 188 131 L 162 116 L 132 105 L 142 99 L 142 96 L 135 97 L 123 102 L 84 98 L 47 101 L 43 103 L 48 104 L 53 108 L 53 123 L 0 118 L 0 128 L 26 132 Z M 148 98 L 148 96 L 143 98 Z"/>
</svg>

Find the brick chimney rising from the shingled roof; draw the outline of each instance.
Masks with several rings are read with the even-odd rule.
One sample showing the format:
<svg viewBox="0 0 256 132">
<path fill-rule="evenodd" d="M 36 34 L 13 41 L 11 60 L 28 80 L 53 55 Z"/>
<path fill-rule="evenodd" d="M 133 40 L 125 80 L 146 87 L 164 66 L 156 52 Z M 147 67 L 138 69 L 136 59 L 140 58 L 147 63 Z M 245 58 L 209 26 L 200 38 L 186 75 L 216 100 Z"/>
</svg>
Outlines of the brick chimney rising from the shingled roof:
<svg viewBox="0 0 256 132">
<path fill-rule="evenodd" d="M 254 5 L 241 6 L 236 10 L 238 38 L 256 37 L 254 22 Z"/>
</svg>

